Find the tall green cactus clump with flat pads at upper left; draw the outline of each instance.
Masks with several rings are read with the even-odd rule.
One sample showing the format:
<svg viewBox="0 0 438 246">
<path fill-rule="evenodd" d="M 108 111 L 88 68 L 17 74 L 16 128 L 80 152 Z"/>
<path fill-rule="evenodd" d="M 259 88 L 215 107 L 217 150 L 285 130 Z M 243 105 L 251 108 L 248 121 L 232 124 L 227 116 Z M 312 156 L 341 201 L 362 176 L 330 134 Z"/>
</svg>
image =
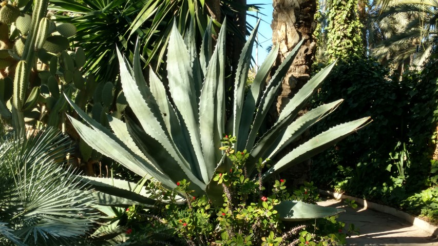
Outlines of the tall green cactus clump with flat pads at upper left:
<svg viewBox="0 0 438 246">
<path fill-rule="evenodd" d="M 35 124 L 61 128 L 78 140 L 81 160 L 95 163 L 101 155 L 84 142 L 79 145 L 79 135 L 67 125 L 66 112 L 72 112 L 64 94 L 102 125 L 108 125 L 106 113 L 122 116 L 126 99 L 115 85 L 98 85 L 92 74 L 84 76 L 85 52 L 70 48 L 75 26 L 48 17 L 48 0 L 32 2 L 32 13 L 24 12 L 29 0 L 0 4 L 1 121 L 15 129 Z"/>
</svg>

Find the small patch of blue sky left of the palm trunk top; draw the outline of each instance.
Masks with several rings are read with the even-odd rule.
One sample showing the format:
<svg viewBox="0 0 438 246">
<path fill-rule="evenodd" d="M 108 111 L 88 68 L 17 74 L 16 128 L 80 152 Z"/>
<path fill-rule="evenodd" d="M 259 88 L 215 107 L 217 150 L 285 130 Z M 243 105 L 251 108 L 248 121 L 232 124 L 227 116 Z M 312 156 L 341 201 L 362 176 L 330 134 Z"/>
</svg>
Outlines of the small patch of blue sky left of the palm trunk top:
<svg viewBox="0 0 438 246">
<path fill-rule="evenodd" d="M 266 47 L 272 45 L 272 29 L 271 29 L 271 22 L 272 22 L 272 11 L 274 10 L 272 8 L 272 1 L 268 0 L 247 0 L 247 4 L 265 4 L 260 6 L 261 9 L 259 13 L 259 17 L 261 18 L 260 26 L 258 30 L 258 39 L 260 46 L 258 47 L 258 65 L 263 62 L 266 55 L 268 55 L 268 52 L 266 52 Z M 256 14 L 255 12 L 249 12 L 251 14 Z M 264 15 L 262 15 L 264 14 Z M 247 16 L 246 20 L 251 24 L 251 26 L 255 26 L 257 23 L 257 19 L 251 16 Z M 256 47 L 253 48 L 253 57 L 255 58 L 256 54 Z"/>
</svg>

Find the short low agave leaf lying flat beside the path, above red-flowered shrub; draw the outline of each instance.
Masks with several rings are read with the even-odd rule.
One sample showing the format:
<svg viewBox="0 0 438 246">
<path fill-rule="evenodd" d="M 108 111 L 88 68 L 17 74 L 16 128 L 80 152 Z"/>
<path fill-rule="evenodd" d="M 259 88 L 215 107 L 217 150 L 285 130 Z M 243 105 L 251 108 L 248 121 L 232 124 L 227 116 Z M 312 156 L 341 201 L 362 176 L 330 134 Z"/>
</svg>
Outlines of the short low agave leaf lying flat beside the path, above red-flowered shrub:
<svg viewBox="0 0 438 246">
<path fill-rule="evenodd" d="M 274 209 L 278 211 L 278 215 L 283 221 L 325 218 L 345 212 L 343 209 L 322 207 L 302 201 L 281 201 L 280 204 L 274 206 Z"/>
</svg>

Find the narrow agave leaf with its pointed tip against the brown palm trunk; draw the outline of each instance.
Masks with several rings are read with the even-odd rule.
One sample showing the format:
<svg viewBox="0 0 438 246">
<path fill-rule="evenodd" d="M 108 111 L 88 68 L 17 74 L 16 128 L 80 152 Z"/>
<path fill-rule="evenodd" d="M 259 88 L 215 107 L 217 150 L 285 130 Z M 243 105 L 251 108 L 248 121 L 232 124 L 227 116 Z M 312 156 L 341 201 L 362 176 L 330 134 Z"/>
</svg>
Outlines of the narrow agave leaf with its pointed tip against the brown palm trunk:
<svg viewBox="0 0 438 246">
<path fill-rule="evenodd" d="M 252 151 L 254 147 L 254 142 L 257 137 L 257 133 L 260 130 L 260 126 L 266 117 L 266 114 L 268 114 L 268 111 L 274 101 L 274 99 L 277 97 L 277 91 L 278 88 L 281 86 L 281 81 L 283 80 L 283 77 L 288 72 L 289 68 L 292 65 L 292 62 L 295 58 L 295 56 L 298 53 L 299 48 L 301 47 L 301 44 L 304 39 L 302 39 L 295 48 L 289 53 L 289 55 L 284 59 L 283 63 L 278 67 L 277 71 L 275 72 L 274 76 L 272 77 L 271 81 L 268 84 L 268 87 L 266 87 L 263 96 L 260 100 L 260 104 L 258 106 L 258 110 L 256 112 L 256 116 L 254 118 L 253 127 L 251 128 L 250 135 L 247 139 L 245 149 L 247 151 Z"/>
</svg>

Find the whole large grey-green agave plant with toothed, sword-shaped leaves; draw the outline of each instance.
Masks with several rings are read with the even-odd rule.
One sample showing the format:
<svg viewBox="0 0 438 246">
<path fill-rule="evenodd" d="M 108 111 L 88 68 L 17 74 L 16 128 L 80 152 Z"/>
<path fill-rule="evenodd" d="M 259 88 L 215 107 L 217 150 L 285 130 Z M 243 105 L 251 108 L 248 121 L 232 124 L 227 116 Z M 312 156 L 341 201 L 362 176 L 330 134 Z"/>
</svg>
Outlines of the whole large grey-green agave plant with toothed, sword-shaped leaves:
<svg viewBox="0 0 438 246">
<path fill-rule="evenodd" d="M 212 202 L 220 202 L 222 190 L 214 185 L 212 177 L 215 172 L 223 172 L 226 168 L 225 154 L 220 150 L 220 140 L 225 132 L 237 136 L 234 146 L 236 150 L 246 149 L 251 154 L 252 161 L 247 161 L 246 170 L 249 176 L 255 177 L 255 162 L 259 158 L 274 158 L 291 141 L 337 108 L 342 101 L 322 105 L 297 118 L 299 110 L 333 68 L 334 64 L 331 64 L 303 86 L 268 131 L 259 134 L 299 45 L 279 66 L 264 88 L 278 52 L 278 47 L 273 48 L 255 76 L 250 91 L 245 95 L 245 82 L 257 27 L 258 24 L 240 56 L 235 75 L 233 108 L 230 109 L 233 114 L 230 119 L 225 119 L 224 103 L 225 90 L 228 90 L 224 87 L 225 29 L 222 28 L 219 34 L 214 52 L 211 47 L 211 33 L 206 32 L 198 54 L 194 36 L 191 35 L 193 30 L 189 30 L 183 38 L 174 26 L 167 48 L 168 91 L 152 70 L 149 71 L 149 83 L 146 83 L 141 72 L 140 47 L 136 47 L 133 67 L 127 65 L 127 60 L 119 52 L 123 91 L 136 118 L 126 115 L 123 122 L 108 115 L 110 129 L 107 129 L 67 98 L 90 127 L 69 117 L 72 125 L 89 146 L 120 162 L 132 172 L 142 177 L 153 177 L 169 189 L 176 188 L 177 181 L 186 179 L 191 182 L 190 188 L 197 195 L 205 194 Z M 368 121 L 369 117 L 358 119 L 315 136 L 280 158 L 262 174 L 262 178 L 268 179 L 310 158 Z M 97 197 L 101 204 L 127 202 L 125 204 L 153 206 L 155 202 L 147 199 L 145 192 L 134 192 L 134 183 L 117 180 L 122 185 L 117 186 L 109 178 L 84 179 L 100 191 Z M 277 210 L 284 220 L 325 217 L 339 212 L 336 209 L 297 201 L 283 201 Z"/>
</svg>

